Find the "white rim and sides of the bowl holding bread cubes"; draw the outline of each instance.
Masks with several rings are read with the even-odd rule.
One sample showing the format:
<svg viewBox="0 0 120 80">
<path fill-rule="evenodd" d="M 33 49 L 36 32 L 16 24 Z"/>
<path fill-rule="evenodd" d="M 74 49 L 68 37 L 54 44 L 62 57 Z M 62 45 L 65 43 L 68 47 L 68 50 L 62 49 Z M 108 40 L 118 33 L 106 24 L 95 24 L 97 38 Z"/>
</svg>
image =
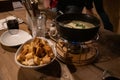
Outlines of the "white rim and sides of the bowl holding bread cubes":
<svg viewBox="0 0 120 80">
<path fill-rule="evenodd" d="M 45 41 L 48 42 L 48 45 L 52 48 L 52 52 L 53 52 L 53 54 L 54 54 L 54 57 L 50 60 L 50 62 L 45 63 L 45 64 L 41 64 L 41 65 L 24 65 L 24 64 L 22 64 L 21 62 L 19 62 L 18 59 L 17 59 L 17 57 L 18 57 L 18 55 L 20 55 L 20 52 L 21 52 L 21 50 L 23 49 L 23 46 L 26 45 L 26 44 L 28 44 L 28 43 L 30 43 L 30 42 L 33 40 L 33 39 L 30 39 L 30 40 L 28 40 L 27 42 L 25 42 L 23 45 L 21 45 L 21 46 L 18 48 L 18 50 L 17 50 L 17 52 L 16 52 L 16 54 L 15 54 L 15 62 L 16 62 L 19 66 L 24 67 L 24 68 L 33 68 L 33 69 L 36 69 L 36 68 L 44 67 L 44 66 L 50 64 L 51 62 L 53 62 L 53 61 L 55 60 L 56 54 L 57 54 L 57 53 L 56 53 L 56 49 L 55 49 L 55 44 L 52 43 L 50 40 L 48 40 L 48 39 L 46 39 L 46 38 L 43 38 L 43 37 L 38 37 L 38 38 L 43 39 L 43 40 L 45 40 Z"/>
</svg>

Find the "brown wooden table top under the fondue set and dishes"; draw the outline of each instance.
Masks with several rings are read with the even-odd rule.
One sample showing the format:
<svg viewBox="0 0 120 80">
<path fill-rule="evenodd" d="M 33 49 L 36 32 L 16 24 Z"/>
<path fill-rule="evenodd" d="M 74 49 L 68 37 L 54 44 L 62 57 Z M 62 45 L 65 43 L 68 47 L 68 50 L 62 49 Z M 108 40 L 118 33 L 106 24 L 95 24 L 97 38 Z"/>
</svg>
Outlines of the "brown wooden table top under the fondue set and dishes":
<svg viewBox="0 0 120 80">
<path fill-rule="evenodd" d="M 26 21 L 24 9 L 0 13 L 0 19 L 11 14 Z M 20 29 L 29 32 L 26 24 L 20 24 Z M 0 35 L 4 31 L 0 30 Z M 97 45 L 99 60 L 94 65 L 69 66 L 54 61 L 37 70 L 22 68 L 15 63 L 18 47 L 0 45 L 0 80 L 102 80 L 103 70 L 120 77 L 120 35 L 100 29 Z"/>
</svg>

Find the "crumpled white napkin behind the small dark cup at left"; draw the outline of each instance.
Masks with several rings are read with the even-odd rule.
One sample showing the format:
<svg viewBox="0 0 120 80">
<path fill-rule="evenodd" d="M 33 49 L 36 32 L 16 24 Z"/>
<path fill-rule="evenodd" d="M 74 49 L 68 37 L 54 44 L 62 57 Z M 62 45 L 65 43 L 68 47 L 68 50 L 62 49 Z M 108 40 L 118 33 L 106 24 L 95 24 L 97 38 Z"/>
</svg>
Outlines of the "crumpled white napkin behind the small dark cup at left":
<svg viewBox="0 0 120 80">
<path fill-rule="evenodd" d="M 4 19 L 0 19 L 0 30 L 7 29 L 6 20 L 12 20 L 12 19 L 17 19 L 19 24 L 23 23 L 23 20 L 20 18 L 17 18 L 15 16 L 8 16 Z"/>
</svg>

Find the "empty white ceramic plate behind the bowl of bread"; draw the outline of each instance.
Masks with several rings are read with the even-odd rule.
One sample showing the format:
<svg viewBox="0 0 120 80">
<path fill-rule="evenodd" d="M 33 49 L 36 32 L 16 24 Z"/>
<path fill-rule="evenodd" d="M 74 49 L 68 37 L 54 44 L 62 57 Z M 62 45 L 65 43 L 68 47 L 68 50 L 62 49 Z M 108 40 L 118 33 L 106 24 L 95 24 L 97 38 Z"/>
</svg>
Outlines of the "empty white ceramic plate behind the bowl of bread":
<svg viewBox="0 0 120 80">
<path fill-rule="evenodd" d="M 16 30 L 13 29 L 11 32 L 16 33 Z M 5 46 L 19 46 L 31 38 L 32 36 L 23 30 L 18 30 L 14 35 L 7 30 L 0 36 L 0 42 Z"/>
</svg>

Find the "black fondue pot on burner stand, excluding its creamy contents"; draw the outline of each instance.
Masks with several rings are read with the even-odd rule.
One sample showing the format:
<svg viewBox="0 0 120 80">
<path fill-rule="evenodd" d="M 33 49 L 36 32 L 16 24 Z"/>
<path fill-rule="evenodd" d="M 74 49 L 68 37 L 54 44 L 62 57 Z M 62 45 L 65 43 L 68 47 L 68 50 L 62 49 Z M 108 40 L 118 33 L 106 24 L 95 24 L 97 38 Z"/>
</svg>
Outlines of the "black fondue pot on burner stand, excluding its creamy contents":
<svg viewBox="0 0 120 80">
<path fill-rule="evenodd" d="M 75 28 L 68 28 L 64 26 L 64 21 L 68 20 L 80 20 L 92 23 L 95 27 L 89 29 L 75 29 Z M 85 42 L 88 40 L 93 39 L 100 27 L 100 21 L 98 18 L 88 15 L 88 14 L 80 14 L 80 13 L 67 13 L 62 14 L 56 17 L 55 19 L 56 27 L 58 33 L 61 37 L 68 41 L 75 41 L 75 42 Z"/>
</svg>

